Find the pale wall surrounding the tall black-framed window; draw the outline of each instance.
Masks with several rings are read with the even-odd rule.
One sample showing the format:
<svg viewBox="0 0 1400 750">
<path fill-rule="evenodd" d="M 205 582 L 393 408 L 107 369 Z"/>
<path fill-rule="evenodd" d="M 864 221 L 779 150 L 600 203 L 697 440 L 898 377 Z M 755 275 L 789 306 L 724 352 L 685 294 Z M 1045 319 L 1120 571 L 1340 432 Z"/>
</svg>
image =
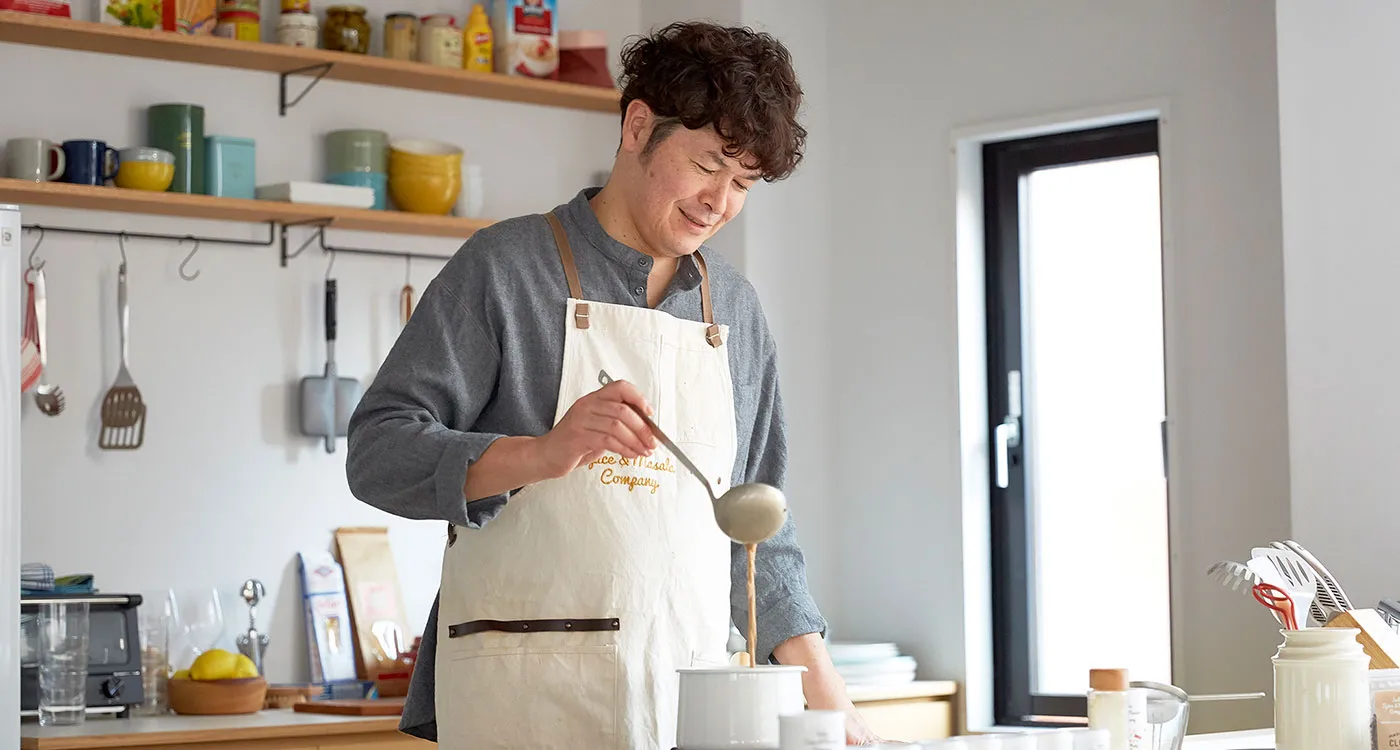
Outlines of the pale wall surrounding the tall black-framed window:
<svg viewBox="0 0 1400 750">
<path fill-rule="evenodd" d="M 836 625 L 899 641 L 925 677 L 980 659 L 963 620 L 979 597 L 965 565 L 986 560 L 962 543 L 952 133 L 1161 98 L 1175 679 L 1267 688 L 1268 618 L 1204 571 L 1288 529 L 1273 3 L 833 3 L 827 22 Z M 1263 701 L 1193 711 L 1198 729 L 1268 721 Z"/>
</svg>

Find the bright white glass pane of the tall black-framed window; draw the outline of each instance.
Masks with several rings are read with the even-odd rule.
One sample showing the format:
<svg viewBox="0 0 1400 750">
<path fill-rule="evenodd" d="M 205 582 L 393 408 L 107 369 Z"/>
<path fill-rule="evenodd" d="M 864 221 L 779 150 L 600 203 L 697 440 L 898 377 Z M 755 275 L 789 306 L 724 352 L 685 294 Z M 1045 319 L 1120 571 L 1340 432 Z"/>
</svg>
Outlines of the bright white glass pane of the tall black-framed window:
<svg viewBox="0 0 1400 750">
<path fill-rule="evenodd" d="M 1158 158 L 1022 188 L 1033 690 L 1170 681 Z"/>
</svg>

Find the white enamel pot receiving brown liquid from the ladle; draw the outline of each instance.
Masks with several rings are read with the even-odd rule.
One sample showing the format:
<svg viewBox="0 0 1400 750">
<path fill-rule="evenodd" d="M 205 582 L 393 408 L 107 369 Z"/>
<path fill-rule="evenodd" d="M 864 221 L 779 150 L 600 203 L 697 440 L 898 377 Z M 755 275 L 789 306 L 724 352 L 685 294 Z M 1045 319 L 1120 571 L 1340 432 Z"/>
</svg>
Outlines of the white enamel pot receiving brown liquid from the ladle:
<svg viewBox="0 0 1400 750">
<path fill-rule="evenodd" d="M 680 750 L 777 750 L 778 716 L 801 714 L 805 666 L 678 669 Z"/>
</svg>

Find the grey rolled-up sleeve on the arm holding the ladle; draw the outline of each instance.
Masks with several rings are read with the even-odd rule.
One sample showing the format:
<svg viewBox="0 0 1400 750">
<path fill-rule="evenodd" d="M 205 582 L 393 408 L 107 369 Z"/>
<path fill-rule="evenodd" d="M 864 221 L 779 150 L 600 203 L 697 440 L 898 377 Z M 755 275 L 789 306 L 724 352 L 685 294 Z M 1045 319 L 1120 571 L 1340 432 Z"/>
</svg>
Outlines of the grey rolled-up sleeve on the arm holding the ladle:
<svg viewBox="0 0 1400 750">
<path fill-rule="evenodd" d="M 444 273 L 424 290 L 351 414 L 346 479 L 385 512 L 480 528 L 507 501 L 463 494 L 470 466 L 503 437 L 470 431 L 496 388 L 500 346 L 454 280 Z"/>
</svg>

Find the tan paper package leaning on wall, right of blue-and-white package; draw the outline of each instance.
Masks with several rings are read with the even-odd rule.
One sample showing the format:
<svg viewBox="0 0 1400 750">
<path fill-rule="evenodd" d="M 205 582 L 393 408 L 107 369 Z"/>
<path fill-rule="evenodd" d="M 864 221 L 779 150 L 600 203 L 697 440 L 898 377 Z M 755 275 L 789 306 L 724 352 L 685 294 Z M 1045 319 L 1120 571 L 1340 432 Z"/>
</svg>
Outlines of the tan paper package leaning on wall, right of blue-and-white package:
<svg viewBox="0 0 1400 750">
<path fill-rule="evenodd" d="M 336 529 L 336 551 L 346 571 L 360 679 L 374 680 L 398 669 L 398 655 L 407 653 L 412 642 L 389 529 Z"/>
</svg>

